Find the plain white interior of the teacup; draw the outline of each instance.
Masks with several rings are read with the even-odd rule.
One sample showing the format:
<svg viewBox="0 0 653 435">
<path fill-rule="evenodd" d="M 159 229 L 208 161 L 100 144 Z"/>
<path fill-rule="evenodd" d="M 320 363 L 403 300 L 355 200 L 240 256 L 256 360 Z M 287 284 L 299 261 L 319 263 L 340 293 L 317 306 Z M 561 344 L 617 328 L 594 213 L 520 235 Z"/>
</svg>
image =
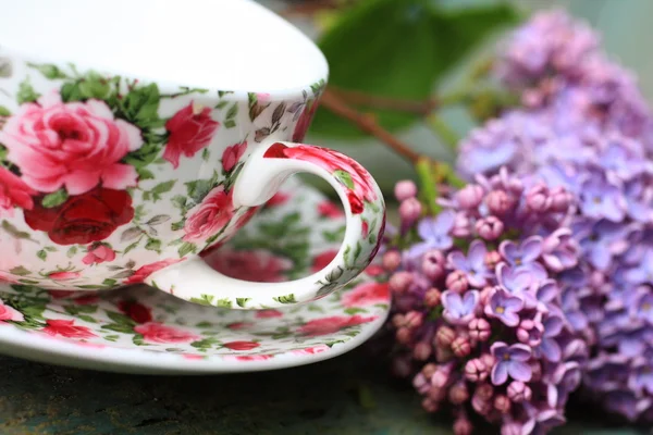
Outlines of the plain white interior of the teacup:
<svg viewBox="0 0 653 435">
<path fill-rule="evenodd" d="M 79 70 L 233 91 L 326 76 L 317 46 L 251 0 L 0 0 L 0 46 Z"/>
</svg>

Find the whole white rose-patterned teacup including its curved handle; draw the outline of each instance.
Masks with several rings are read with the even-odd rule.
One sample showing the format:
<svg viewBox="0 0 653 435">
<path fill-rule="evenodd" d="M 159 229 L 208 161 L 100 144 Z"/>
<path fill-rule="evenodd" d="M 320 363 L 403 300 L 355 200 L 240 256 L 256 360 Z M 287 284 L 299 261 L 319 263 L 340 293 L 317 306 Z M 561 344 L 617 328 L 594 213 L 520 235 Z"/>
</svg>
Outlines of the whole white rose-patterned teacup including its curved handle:
<svg viewBox="0 0 653 435">
<path fill-rule="evenodd" d="M 370 174 L 300 144 L 325 86 L 320 50 L 249 0 L 0 0 L 0 273 L 49 289 L 146 283 L 217 307 L 329 295 L 385 224 Z M 337 191 L 337 256 L 288 283 L 233 279 L 201 254 L 292 174 Z"/>
</svg>

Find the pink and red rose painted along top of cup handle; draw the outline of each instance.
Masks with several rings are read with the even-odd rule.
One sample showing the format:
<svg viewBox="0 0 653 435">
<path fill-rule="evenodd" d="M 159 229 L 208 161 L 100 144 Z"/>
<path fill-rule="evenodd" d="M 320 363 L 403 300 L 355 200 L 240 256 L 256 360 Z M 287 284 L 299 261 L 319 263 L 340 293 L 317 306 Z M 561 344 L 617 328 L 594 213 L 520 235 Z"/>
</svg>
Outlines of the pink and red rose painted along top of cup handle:
<svg viewBox="0 0 653 435">
<path fill-rule="evenodd" d="M 297 159 L 312 162 L 330 173 L 338 171 L 338 178 L 347 186 L 353 186 L 347 195 L 352 212 L 362 213 L 364 201 L 372 202 L 378 196 L 372 187 L 372 178 L 356 161 L 345 154 L 326 148 L 298 145 L 287 147 L 281 142 L 273 144 L 264 153 L 266 158 Z"/>
</svg>

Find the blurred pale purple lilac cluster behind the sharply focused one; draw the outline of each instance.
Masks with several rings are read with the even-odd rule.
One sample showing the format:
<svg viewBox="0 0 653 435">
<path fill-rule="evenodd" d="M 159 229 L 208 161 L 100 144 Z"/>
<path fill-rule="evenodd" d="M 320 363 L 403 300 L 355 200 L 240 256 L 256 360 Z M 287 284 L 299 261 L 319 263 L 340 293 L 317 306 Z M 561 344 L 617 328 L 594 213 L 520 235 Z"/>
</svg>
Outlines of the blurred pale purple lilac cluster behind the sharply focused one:
<svg viewBox="0 0 653 435">
<path fill-rule="evenodd" d="M 501 67 L 510 85 L 527 75 L 509 53 L 534 50 L 523 40 L 538 39 L 544 27 L 554 41 L 570 38 L 569 46 L 530 54 L 547 57 L 547 66 L 531 69 L 525 108 L 475 130 L 461 144 L 458 167 L 471 177 L 505 165 L 530 183 L 574 194 L 566 222 L 581 261 L 558 283 L 571 330 L 593 345 L 584 387 L 611 411 L 653 421 L 652 117 L 634 79 L 588 44 L 596 38 L 587 28 L 557 12 L 517 32 L 512 60 Z M 575 47 L 592 48 L 581 50 L 584 65 L 571 72 L 554 58 L 571 59 Z"/>
</svg>

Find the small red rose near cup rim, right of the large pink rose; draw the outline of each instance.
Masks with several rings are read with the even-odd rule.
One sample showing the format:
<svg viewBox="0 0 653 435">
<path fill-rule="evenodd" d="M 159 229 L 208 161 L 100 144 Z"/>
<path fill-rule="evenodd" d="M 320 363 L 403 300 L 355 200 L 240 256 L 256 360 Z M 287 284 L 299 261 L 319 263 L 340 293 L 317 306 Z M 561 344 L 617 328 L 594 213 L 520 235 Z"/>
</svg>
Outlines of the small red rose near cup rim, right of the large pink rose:
<svg viewBox="0 0 653 435">
<path fill-rule="evenodd" d="M 190 102 L 165 123 L 170 136 L 163 159 L 177 167 L 182 154 L 193 157 L 211 142 L 219 125 L 219 122 L 211 119 L 210 108 Z"/>
</svg>

